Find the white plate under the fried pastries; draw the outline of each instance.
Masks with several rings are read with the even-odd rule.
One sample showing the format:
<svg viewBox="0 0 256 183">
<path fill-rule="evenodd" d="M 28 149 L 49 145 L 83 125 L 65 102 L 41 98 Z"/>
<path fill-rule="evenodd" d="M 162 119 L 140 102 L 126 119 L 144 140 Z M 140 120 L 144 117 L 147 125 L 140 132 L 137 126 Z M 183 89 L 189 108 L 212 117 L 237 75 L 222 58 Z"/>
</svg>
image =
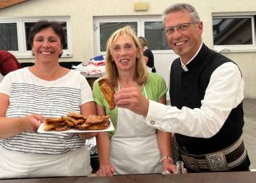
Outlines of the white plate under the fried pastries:
<svg viewBox="0 0 256 183">
<path fill-rule="evenodd" d="M 45 131 L 43 130 L 44 124 L 41 123 L 40 127 L 38 128 L 38 133 L 89 133 L 89 132 L 106 132 L 106 131 L 112 131 L 115 130 L 111 120 L 108 128 L 104 130 L 76 130 L 76 129 L 69 129 L 69 130 L 64 130 L 64 131 Z"/>
</svg>

